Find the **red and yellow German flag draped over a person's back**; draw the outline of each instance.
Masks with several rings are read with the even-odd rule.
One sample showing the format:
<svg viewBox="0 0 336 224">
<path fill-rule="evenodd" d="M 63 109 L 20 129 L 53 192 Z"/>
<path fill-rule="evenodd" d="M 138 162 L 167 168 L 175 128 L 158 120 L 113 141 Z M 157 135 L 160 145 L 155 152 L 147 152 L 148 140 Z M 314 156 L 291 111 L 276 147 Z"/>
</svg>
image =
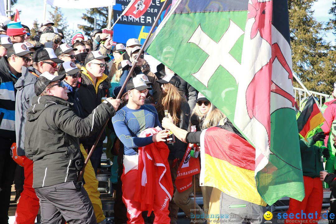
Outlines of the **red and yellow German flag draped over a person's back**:
<svg viewBox="0 0 336 224">
<path fill-rule="evenodd" d="M 266 206 L 258 193 L 255 176 L 255 148 L 227 121 L 201 134 L 201 186 Z M 243 193 L 242 193 L 243 192 Z"/>
</svg>

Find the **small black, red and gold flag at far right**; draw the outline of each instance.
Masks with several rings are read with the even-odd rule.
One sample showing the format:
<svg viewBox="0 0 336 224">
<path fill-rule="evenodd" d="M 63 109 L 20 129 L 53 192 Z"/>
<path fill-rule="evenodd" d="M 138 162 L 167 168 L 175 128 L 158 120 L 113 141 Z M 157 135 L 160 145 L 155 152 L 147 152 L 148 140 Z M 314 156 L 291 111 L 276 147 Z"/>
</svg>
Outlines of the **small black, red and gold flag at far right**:
<svg viewBox="0 0 336 224">
<path fill-rule="evenodd" d="M 326 119 L 322 115 L 319 105 L 313 95 L 309 96 L 306 105 L 303 107 L 299 118 L 297 119 L 297 127 L 300 135 L 307 141 L 308 133 L 322 124 Z"/>
</svg>

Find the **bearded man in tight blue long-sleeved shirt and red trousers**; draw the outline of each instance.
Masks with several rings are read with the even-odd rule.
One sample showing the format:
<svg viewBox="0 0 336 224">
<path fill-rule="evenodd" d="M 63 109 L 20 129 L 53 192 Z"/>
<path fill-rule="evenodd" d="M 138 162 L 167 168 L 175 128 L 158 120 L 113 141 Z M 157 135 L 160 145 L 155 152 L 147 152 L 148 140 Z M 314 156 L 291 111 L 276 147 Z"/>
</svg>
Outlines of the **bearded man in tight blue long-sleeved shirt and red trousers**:
<svg viewBox="0 0 336 224">
<path fill-rule="evenodd" d="M 165 130 L 153 136 L 144 138 L 138 137 L 141 131 L 145 129 L 157 126 L 161 128 L 155 107 L 152 105 L 144 105 L 144 100 L 149 89 L 151 88 L 139 77 L 134 77 L 128 81 L 126 85 L 128 103 L 112 118 L 115 132 L 120 141 L 124 144 L 124 172 L 121 176 L 121 180 L 123 182 L 123 202 L 127 208 L 127 223 L 144 223 L 141 216 L 141 204 L 134 200 L 134 184 L 137 180 L 138 168 L 138 147 L 146 146 L 153 142 L 165 141 L 167 137 Z M 159 194 L 160 192 L 156 192 L 155 197 Z M 168 204 L 169 200 L 167 201 L 164 198 L 162 201 L 159 200 L 158 205 L 153 206 L 155 214 L 154 224 L 170 223 Z"/>
</svg>

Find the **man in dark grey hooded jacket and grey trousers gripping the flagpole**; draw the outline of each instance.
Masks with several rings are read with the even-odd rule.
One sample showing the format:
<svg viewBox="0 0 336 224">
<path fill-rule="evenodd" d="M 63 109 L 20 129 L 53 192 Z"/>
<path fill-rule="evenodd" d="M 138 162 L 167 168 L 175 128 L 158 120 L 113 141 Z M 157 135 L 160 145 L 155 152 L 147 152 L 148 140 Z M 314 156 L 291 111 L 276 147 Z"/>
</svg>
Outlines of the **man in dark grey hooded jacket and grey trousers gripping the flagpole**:
<svg viewBox="0 0 336 224">
<path fill-rule="evenodd" d="M 69 107 L 65 78 L 42 73 L 27 109 L 25 153 L 33 160 L 33 188 L 40 199 L 41 223 L 95 224 L 87 192 L 77 177 L 84 158 L 79 138 L 99 131 L 115 115 L 120 100 L 104 100 L 81 119 Z"/>
</svg>

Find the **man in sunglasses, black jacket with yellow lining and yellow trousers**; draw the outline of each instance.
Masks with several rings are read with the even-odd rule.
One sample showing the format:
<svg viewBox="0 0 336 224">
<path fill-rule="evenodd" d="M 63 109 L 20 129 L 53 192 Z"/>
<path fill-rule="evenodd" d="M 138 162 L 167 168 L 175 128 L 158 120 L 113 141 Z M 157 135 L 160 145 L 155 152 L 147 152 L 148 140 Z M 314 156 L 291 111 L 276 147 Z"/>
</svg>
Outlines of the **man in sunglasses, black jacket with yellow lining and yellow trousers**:
<svg viewBox="0 0 336 224">
<path fill-rule="evenodd" d="M 87 116 L 89 110 L 94 110 L 100 103 L 101 98 L 109 96 L 109 84 L 106 81 L 107 75 L 104 74 L 106 68 L 106 62 L 108 57 L 104 56 L 100 51 L 92 51 L 86 56 L 84 66 L 81 67 L 81 86 L 78 90 L 80 96 L 83 114 Z M 91 149 L 94 141 L 97 138 L 98 133 L 87 137 L 85 139 L 80 139 L 81 152 L 84 158 L 87 158 L 87 152 Z M 102 142 L 105 139 L 105 132 L 101 135 L 95 150 L 90 158 L 93 170 L 92 172 L 87 172 L 85 169 L 84 180 L 90 178 L 90 184 L 84 185 L 85 190 L 88 192 L 91 203 L 93 205 L 93 210 L 96 215 L 97 222 L 104 220 L 105 216 L 102 213 L 101 201 L 99 199 L 98 181 L 96 180 L 95 174 L 100 164 L 100 158 L 102 154 Z M 91 184 L 92 183 L 92 184 Z"/>
</svg>

